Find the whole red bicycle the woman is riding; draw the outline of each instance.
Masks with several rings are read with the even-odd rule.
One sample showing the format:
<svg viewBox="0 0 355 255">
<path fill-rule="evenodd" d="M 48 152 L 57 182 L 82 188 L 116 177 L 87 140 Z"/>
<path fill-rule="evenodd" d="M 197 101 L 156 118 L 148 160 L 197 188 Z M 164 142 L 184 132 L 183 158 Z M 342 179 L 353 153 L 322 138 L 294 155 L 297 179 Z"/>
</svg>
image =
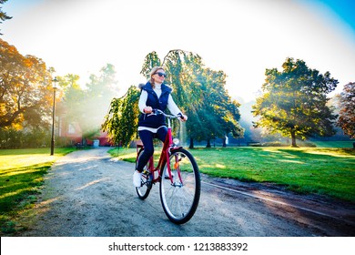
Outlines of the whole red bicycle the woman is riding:
<svg viewBox="0 0 355 255">
<path fill-rule="evenodd" d="M 141 186 L 137 187 L 139 199 L 147 199 L 153 184 L 160 183 L 160 201 L 167 218 L 176 224 L 183 224 L 195 214 L 201 192 L 198 164 L 187 149 L 178 146 L 177 138 L 171 134 L 170 119 L 178 116 L 167 115 L 155 109 L 154 114 L 167 117 L 167 138 L 161 150 L 157 167 L 154 157 L 149 158 L 142 172 Z M 136 168 L 143 145 L 137 145 Z"/>
</svg>

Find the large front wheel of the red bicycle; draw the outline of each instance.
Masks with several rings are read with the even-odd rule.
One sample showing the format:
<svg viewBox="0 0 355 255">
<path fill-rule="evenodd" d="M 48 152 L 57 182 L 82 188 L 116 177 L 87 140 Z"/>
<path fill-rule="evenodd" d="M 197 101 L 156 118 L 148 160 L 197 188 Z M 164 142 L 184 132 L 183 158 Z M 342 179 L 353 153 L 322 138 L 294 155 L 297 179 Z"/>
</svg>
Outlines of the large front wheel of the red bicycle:
<svg viewBox="0 0 355 255">
<path fill-rule="evenodd" d="M 188 222 L 198 208 L 200 192 L 201 179 L 195 158 L 185 148 L 172 150 L 160 181 L 160 200 L 167 218 L 176 224 Z"/>
</svg>

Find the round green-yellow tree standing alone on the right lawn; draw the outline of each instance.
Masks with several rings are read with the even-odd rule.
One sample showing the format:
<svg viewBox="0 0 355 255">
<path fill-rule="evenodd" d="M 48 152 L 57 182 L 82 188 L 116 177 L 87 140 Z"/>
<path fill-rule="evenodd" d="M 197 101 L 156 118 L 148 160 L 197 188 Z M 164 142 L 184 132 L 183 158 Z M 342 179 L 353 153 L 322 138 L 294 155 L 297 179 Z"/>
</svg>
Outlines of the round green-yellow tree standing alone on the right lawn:
<svg viewBox="0 0 355 255">
<path fill-rule="evenodd" d="M 297 147 L 296 138 L 333 135 L 336 115 L 327 107 L 327 94 L 338 80 L 329 72 L 321 75 L 299 59 L 289 57 L 282 67 L 282 72 L 266 69 L 263 95 L 252 107 L 254 116 L 260 117 L 254 127 L 292 138 L 292 147 Z"/>
</svg>

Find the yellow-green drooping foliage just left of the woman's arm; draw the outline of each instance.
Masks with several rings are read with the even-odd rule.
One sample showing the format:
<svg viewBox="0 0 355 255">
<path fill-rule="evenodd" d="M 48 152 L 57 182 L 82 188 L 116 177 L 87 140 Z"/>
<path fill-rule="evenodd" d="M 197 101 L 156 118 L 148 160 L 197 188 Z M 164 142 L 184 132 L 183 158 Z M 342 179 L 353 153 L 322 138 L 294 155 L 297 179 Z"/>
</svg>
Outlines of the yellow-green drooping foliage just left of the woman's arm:
<svg viewBox="0 0 355 255">
<path fill-rule="evenodd" d="M 107 132 L 108 138 L 115 145 L 128 147 L 137 137 L 139 95 L 137 87 L 131 86 L 124 97 L 114 98 L 111 101 L 102 129 Z"/>
</svg>

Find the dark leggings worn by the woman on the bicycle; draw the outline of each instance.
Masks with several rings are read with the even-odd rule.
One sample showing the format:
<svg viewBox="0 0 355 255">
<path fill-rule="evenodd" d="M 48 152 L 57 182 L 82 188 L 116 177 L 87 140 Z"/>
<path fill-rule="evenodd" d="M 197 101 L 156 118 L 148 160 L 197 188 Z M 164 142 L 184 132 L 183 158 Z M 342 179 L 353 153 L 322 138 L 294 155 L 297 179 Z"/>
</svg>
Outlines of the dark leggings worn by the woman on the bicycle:
<svg viewBox="0 0 355 255">
<path fill-rule="evenodd" d="M 138 131 L 139 138 L 142 140 L 144 145 L 144 152 L 140 156 L 138 161 L 137 170 L 139 172 L 143 171 L 143 168 L 147 165 L 147 162 L 154 153 L 153 138 L 158 138 L 162 142 L 165 141 L 167 137 L 167 127 L 161 127 L 157 129 L 157 134 L 152 133 L 148 130 Z"/>
</svg>

